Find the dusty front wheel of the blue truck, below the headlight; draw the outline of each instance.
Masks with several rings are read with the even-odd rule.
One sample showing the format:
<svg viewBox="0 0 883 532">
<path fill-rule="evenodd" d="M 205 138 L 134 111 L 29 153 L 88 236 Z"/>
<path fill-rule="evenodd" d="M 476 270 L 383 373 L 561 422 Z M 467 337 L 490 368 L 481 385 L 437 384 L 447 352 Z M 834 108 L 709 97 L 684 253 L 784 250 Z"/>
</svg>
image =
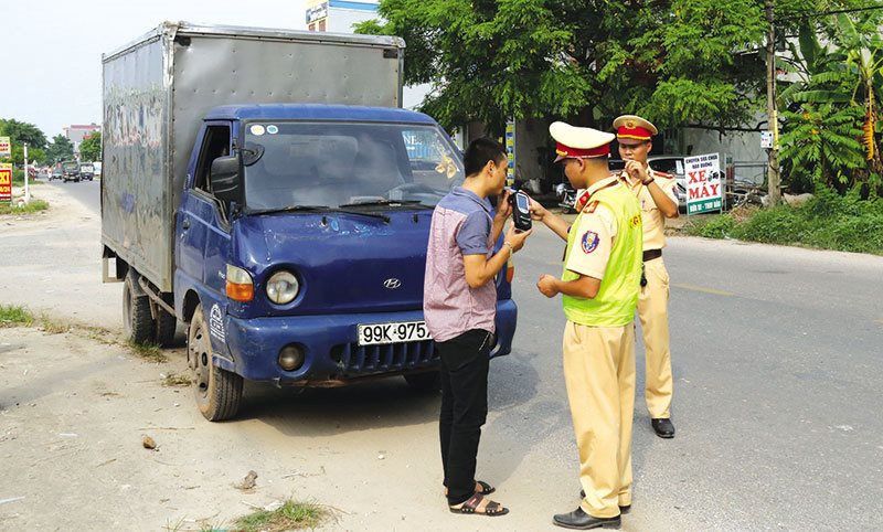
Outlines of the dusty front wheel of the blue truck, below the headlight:
<svg viewBox="0 0 883 532">
<path fill-rule="evenodd" d="M 187 334 L 188 364 L 194 372 L 196 406 L 210 422 L 222 422 L 236 415 L 242 402 L 242 376 L 212 364 L 209 327 L 196 307 Z"/>
</svg>

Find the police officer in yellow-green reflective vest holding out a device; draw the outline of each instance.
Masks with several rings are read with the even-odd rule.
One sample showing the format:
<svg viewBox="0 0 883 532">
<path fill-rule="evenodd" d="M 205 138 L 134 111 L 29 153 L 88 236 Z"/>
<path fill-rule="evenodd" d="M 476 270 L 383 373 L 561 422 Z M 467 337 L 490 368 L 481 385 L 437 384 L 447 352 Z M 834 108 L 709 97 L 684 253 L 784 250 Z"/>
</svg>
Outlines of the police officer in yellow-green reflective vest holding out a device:
<svg viewBox="0 0 883 532">
<path fill-rule="evenodd" d="M 562 295 L 564 381 L 571 405 L 579 479 L 579 507 L 554 517 L 560 526 L 619 526 L 631 507 L 631 422 L 635 406 L 635 307 L 641 276 L 641 215 L 628 188 L 611 175 L 611 134 L 554 123 L 557 159 L 588 203 L 573 226 L 536 203 L 531 210 L 567 241 L 564 273 L 536 284 Z"/>
</svg>

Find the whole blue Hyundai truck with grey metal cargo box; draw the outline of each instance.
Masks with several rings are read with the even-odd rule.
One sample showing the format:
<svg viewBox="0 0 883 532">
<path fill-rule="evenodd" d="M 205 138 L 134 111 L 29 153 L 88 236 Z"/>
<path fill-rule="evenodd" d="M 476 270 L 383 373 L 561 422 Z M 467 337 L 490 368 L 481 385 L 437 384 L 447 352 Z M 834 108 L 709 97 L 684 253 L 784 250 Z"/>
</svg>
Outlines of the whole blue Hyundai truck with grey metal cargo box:
<svg viewBox="0 0 883 532">
<path fill-rule="evenodd" d="M 243 380 L 437 386 L 423 321 L 435 204 L 464 180 L 400 108 L 396 38 L 164 23 L 103 57 L 103 277 L 136 342 L 187 328 L 200 412 Z M 498 244 L 499 246 L 499 244 Z M 511 264 L 492 355 L 509 353 Z"/>
</svg>

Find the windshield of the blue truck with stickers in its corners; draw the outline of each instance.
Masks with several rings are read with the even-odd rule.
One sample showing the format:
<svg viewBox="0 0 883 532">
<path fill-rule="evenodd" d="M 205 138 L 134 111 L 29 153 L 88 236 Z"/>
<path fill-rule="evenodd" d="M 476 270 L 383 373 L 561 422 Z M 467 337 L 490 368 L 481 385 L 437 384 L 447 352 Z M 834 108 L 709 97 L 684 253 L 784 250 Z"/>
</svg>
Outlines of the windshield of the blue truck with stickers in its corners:
<svg viewBox="0 0 883 532">
<path fill-rule="evenodd" d="M 435 126 L 249 123 L 243 153 L 253 211 L 435 206 L 464 181 L 459 153 Z"/>
</svg>

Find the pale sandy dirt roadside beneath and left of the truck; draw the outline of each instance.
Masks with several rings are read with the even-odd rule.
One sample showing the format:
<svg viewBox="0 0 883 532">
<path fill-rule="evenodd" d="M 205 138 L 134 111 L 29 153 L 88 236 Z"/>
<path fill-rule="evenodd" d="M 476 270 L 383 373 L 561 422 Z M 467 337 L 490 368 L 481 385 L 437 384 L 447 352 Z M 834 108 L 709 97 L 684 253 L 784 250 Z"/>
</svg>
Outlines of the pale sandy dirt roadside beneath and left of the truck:
<svg viewBox="0 0 883 532">
<path fill-rule="evenodd" d="M 121 287 L 100 281 L 98 216 L 54 187 L 33 194 L 50 211 L 0 219 L 0 302 L 118 336 Z M 451 518 L 438 398 L 402 379 L 302 394 L 246 384 L 237 419 L 213 424 L 190 387 L 162 384 L 185 373 L 183 344 L 164 353 L 156 363 L 83 332 L 0 328 L 0 530 L 200 530 L 286 498 L 334 508 L 333 530 L 526 530 L 550 521 L 528 508 L 561 507 L 535 492 L 545 460 L 493 460 L 512 445 L 496 430 L 485 478 L 511 477 L 501 500 L 520 515 Z M 249 470 L 256 488 L 234 488 Z"/>
</svg>

